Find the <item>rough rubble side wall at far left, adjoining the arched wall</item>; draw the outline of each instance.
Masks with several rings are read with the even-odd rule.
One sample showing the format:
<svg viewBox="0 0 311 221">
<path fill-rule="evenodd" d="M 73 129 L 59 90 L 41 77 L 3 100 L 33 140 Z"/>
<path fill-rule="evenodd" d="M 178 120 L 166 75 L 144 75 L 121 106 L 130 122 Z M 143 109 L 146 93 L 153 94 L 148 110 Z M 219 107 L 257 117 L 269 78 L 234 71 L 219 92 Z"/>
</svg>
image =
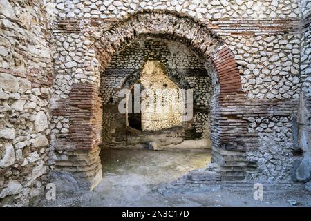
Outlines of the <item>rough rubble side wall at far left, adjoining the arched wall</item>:
<svg viewBox="0 0 311 221">
<path fill-rule="evenodd" d="M 53 63 L 46 1 L 0 1 L 0 206 L 44 191 Z"/>
</svg>

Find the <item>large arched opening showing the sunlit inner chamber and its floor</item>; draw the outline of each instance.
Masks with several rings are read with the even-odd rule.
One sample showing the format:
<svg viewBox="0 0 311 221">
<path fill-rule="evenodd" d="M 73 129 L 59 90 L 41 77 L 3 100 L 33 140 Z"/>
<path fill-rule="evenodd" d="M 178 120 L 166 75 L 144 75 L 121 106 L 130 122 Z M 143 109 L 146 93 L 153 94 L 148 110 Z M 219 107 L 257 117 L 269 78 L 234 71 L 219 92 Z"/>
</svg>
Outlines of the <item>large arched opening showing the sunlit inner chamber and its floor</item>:
<svg viewBox="0 0 311 221">
<path fill-rule="evenodd" d="M 115 52 L 100 84 L 104 177 L 122 180 L 121 168 L 126 177 L 156 184 L 205 167 L 216 103 L 212 75 L 214 68 L 180 41 L 143 35 Z"/>
</svg>

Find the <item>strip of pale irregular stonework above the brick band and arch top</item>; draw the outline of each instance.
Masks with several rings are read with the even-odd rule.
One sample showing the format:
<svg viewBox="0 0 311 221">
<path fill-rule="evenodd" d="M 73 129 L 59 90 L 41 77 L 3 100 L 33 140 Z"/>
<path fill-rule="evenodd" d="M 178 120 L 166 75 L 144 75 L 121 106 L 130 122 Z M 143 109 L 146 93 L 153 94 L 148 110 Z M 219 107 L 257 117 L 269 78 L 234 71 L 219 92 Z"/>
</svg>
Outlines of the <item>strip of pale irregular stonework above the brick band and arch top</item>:
<svg viewBox="0 0 311 221">
<path fill-rule="evenodd" d="M 198 19 L 285 19 L 299 17 L 295 0 L 228 1 L 57 1 L 57 15 L 70 19 L 120 19 L 141 10 L 168 10 L 187 13 Z"/>
</svg>

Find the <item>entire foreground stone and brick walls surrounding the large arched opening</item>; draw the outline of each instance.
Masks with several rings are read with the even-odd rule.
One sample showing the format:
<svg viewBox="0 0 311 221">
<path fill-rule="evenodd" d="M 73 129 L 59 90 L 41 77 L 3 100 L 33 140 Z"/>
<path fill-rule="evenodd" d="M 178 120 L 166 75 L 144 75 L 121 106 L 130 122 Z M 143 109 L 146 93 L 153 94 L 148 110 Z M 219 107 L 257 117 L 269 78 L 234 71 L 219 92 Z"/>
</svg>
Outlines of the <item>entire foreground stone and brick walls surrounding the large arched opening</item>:
<svg viewBox="0 0 311 221">
<path fill-rule="evenodd" d="M 198 99 L 209 101 L 210 114 L 198 105 L 194 125 L 207 128 L 221 180 L 288 181 L 292 171 L 310 180 L 299 176 L 310 172 L 310 1 L 0 0 L 0 7 L 1 206 L 28 204 L 49 169 L 87 180 L 82 186 L 100 181 L 98 145 L 111 127 L 102 128 L 101 73 L 147 35 L 185 44 L 214 68 L 213 99 Z M 107 79 L 120 89 L 126 78 Z"/>
</svg>

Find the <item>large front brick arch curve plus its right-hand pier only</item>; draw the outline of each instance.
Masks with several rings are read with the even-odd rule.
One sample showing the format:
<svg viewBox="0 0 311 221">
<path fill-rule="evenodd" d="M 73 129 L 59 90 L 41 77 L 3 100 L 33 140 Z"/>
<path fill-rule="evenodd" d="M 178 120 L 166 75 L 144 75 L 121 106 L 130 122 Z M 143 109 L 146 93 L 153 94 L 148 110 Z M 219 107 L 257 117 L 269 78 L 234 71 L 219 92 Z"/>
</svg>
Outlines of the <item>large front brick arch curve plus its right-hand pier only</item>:
<svg viewBox="0 0 311 221">
<path fill-rule="evenodd" d="M 143 36 L 181 41 L 214 67 L 220 93 L 217 91 L 214 95 L 214 110 L 210 115 L 211 161 L 220 166 L 221 180 L 244 179 L 245 165 L 248 164 L 245 150 L 248 147 L 243 141 L 248 134 L 245 129 L 247 122 L 239 110 L 243 109 L 246 97 L 241 90 L 241 77 L 229 46 L 204 23 L 190 17 L 173 12 L 138 12 L 117 22 L 95 39 L 93 47 L 102 70 L 108 66 L 115 52 Z"/>
</svg>

